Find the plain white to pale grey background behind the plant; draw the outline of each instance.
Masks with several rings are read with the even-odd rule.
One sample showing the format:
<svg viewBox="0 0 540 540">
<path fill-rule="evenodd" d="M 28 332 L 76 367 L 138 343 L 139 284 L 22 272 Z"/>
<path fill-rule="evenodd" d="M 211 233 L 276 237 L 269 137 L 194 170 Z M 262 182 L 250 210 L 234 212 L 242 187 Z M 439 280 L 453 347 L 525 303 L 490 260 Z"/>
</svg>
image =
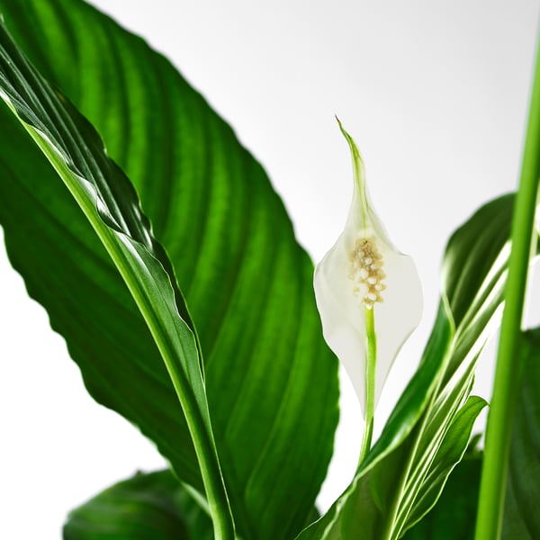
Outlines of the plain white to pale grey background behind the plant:
<svg viewBox="0 0 540 540">
<path fill-rule="evenodd" d="M 365 157 L 376 210 L 415 257 L 421 327 L 379 406 L 379 428 L 418 363 L 449 234 L 517 184 L 538 4 L 532 0 L 94 0 L 164 52 L 266 167 L 319 260 L 343 227 L 347 145 Z M 92 401 L 62 338 L 0 255 L 0 537 L 60 537 L 68 509 L 163 464 L 135 428 Z M 488 396 L 491 361 L 478 375 Z M 361 422 L 343 381 L 328 507 L 354 471 Z M 306 403 L 309 407 L 309 403 Z M 378 431 L 379 428 L 376 428 Z"/>
</svg>

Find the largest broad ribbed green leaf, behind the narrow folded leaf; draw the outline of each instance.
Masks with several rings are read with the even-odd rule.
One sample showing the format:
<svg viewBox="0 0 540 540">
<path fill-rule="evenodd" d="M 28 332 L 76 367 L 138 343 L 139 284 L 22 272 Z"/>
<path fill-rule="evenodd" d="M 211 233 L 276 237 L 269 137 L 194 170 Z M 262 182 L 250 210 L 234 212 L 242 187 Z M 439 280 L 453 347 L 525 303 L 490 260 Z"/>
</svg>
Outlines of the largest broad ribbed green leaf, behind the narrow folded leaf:
<svg viewBox="0 0 540 540">
<path fill-rule="evenodd" d="M 142 40 L 75 0 L 2 0 L 0 8 L 40 71 L 100 130 L 166 247 L 199 333 L 241 535 L 294 536 L 329 463 L 338 384 L 311 262 L 282 202 L 229 127 Z M 139 312 L 50 167 L 1 114 L 0 220 L 14 266 L 95 399 L 136 423 L 201 490 L 182 412 Z"/>
</svg>

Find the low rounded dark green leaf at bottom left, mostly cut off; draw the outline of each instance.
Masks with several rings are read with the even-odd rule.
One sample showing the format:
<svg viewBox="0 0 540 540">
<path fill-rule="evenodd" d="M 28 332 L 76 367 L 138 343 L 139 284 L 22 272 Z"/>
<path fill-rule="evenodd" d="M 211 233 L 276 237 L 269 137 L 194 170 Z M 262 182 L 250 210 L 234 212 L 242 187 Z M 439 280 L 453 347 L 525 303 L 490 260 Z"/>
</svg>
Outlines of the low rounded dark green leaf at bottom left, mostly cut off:
<svg viewBox="0 0 540 540">
<path fill-rule="evenodd" d="M 211 520 L 170 471 L 137 473 L 70 512 L 64 540 L 211 540 Z"/>
</svg>

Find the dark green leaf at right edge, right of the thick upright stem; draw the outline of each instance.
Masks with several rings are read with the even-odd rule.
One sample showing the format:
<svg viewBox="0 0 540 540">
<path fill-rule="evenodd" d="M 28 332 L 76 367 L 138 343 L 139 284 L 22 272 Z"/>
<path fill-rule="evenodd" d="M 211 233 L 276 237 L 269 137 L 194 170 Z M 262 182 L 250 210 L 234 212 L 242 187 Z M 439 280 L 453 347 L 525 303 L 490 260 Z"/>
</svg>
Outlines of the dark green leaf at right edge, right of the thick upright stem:
<svg viewBox="0 0 540 540">
<path fill-rule="evenodd" d="M 520 344 L 521 392 L 510 446 L 502 538 L 540 537 L 540 329 L 526 332 Z"/>
</svg>

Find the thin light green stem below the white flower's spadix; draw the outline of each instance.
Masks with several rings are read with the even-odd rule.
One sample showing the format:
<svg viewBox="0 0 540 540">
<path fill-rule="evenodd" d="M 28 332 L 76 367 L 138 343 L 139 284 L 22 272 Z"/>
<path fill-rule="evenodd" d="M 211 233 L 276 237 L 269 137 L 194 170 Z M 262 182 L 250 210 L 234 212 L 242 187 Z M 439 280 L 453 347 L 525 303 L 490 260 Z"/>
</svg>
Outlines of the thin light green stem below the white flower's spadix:
<svg viewBox="0 0 540 540">
<path fill-rule="evenodd" d="M 377 336 L 375 334 L 375 316 L 373 308 L 364 308 L 367 358 L 365 362 L 365 427 L 358 466 L 365 460 L 371 448 L 374 433 L 375 414 L 375 369 L 377 366 Z"/>
</svg>

